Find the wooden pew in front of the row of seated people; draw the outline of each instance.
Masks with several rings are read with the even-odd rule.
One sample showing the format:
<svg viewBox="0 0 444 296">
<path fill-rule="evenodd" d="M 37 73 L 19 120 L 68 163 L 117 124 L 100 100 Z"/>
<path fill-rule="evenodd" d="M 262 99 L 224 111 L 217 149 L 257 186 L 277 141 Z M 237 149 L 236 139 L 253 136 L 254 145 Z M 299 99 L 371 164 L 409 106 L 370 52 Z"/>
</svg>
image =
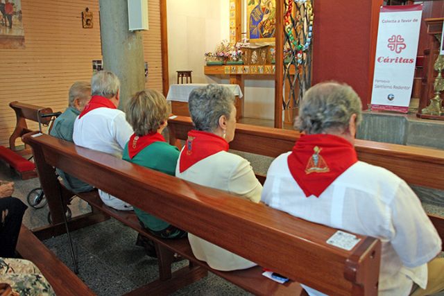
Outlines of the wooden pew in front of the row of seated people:
<svg viewBox="0 0 444 296">
<path fill-rule="evenodd" d="M 171 145 L 186 140 L 193 128 L 189 117 L 176 116 L 168 121 Z M 266 128 L 237 123 L 230 149 L 268 157 L 278 157 L 290 151 L 299 139 L 300 132 Z M 444 151 L 430 148 L 402 146 L 357 139 L 355 142 L 359 160 L 392 171 L 407 183 L 444 190 Z M 257 175 L 263 183 L 264 175 Z M 444 241 L 444 218 L 429 214 L 430 220 Z M 444 245 L 443 245 L 444 248 Z"/>
</svg>

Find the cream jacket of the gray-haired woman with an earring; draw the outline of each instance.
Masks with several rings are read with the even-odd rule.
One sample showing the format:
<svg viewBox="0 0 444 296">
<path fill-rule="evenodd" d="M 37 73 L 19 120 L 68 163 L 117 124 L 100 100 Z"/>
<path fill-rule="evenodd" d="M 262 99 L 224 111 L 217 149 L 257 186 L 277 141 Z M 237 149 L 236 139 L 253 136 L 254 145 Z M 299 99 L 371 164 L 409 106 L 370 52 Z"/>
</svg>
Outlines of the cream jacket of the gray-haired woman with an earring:
<svg viewBox="0 0 444 296">
<path fill-rule="evenodd" d="M 176 177 L 180 179 L 228 191 L 252 202 L 260 200 L 262 185 L 257 180 L 250 163 L 239 155 L 221 151 L 196 162 L 182 173 L 179 167 L 180 157 L 176 166 Z M 188 239 L 194 256 L 216 270 L 239 270 L 256 265 L 194 234 L 188 234 Z"/>
</svg>

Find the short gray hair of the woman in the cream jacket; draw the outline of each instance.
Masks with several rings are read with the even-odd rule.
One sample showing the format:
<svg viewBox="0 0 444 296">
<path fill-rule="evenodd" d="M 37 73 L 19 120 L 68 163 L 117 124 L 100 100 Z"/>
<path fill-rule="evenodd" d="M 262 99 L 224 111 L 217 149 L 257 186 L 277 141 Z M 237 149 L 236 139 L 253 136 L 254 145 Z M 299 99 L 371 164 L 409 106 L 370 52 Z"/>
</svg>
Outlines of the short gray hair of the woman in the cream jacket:
<svg viewBox="0 0 444 296">
<path fill-rule="evenodd" d="M 197 130 L 214 132 L 222 115 L 230 119 L 232 108 L 234 94 L 221 85 L 198 87 L 189 94 L 189 114 Z"/>
</svg>

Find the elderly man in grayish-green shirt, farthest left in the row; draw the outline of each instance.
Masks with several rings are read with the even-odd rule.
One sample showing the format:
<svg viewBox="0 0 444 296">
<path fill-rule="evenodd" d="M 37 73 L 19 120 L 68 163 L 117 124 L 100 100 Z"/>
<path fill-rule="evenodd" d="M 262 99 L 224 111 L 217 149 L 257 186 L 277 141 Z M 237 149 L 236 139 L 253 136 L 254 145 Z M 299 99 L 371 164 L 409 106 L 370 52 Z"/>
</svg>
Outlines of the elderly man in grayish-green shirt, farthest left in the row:
<svg viewBox="0 0 444 296">
<path fill-rule="evenodd" d="M 91 98 L 91 85 L 89 82 L 77 81 L 69 88 L 68 107 L 56 118 L 51 129 L 51 136 L 65 141 L 73 142 L 74 121 Z M 58 175 L 62 177 L 63 184 L 74 193 L 91 191 L 93 187 L 76 177 L 66 174 L 57 169 Z"/>
</svg>

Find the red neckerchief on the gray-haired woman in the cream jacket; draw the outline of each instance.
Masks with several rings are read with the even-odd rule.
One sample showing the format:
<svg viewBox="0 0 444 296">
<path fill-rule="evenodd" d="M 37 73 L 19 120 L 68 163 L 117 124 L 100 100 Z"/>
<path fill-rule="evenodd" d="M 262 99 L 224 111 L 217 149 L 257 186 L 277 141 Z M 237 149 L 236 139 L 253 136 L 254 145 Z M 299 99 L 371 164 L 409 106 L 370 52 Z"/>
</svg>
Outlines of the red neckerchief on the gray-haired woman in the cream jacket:
<svg viewBox="0 0 444 296">
<path fill-rule="evenodd" d="M 222 137 L 211 132 L 190 130 L 185 148 L 180 153 L 179 171 L 187 170 L 196 162 L 221 151 L 228 151 L 228 143 Z"/>
</svg>

